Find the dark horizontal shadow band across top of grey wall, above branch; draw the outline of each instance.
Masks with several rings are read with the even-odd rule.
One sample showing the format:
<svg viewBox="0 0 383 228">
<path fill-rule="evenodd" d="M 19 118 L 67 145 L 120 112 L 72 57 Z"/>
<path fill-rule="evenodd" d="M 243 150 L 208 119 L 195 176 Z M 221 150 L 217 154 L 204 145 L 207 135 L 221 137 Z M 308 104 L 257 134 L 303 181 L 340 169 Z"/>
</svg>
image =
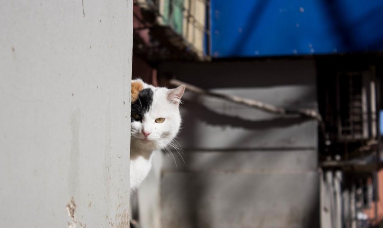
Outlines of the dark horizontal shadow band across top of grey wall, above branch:
<svg viewBox="0 0 383 228">
<path fill-rule="evenodd" d="M 316 84 L 312 60 L 217 61 L 208 63 L 163 63 L 159 76 L 178 80 L 203 89 L 267 88 L 279 85 Z"/>
</svg>

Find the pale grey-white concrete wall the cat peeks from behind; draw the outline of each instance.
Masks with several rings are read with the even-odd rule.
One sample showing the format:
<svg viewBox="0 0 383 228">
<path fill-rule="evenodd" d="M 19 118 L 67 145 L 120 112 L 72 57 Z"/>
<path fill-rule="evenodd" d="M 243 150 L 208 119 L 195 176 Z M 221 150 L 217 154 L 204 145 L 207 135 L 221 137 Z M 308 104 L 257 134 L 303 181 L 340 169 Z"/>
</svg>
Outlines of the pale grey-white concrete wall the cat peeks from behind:
<svg viewBox="0 0 383 228">
<path fill-rule="evenodd" d="M 1 227 L 128 226 L 132 4 L 2 1 Z"/>
</svg>

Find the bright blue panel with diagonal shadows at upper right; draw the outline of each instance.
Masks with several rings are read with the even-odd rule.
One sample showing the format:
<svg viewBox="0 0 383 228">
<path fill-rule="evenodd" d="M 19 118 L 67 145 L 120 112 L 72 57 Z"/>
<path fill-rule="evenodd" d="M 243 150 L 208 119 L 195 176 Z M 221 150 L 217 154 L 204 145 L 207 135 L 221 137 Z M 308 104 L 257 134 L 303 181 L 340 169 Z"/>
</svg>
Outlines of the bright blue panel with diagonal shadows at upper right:
<svg viewBox="0 0 383 228">
<path fill-rule="evenodd" d="M 383 51 L 383 1 L 212 0 L 213 57 Z"/>
</svg>

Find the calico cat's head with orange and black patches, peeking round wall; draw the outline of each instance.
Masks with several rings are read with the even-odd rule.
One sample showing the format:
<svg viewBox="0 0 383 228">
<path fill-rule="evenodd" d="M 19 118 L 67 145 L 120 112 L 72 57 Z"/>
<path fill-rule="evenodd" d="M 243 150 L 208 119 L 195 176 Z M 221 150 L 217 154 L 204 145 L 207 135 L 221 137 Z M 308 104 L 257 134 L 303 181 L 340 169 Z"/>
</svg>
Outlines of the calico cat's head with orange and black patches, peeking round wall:
<svg viewBox="0 0 383 228">
<path fill-rule="evenodd" d="M 167 89 L 132 80 L 132 144 L 156 150 L 174 139 L 181 125 L 179 104 L 184 90 L 184 85 Z"/>
</svg>

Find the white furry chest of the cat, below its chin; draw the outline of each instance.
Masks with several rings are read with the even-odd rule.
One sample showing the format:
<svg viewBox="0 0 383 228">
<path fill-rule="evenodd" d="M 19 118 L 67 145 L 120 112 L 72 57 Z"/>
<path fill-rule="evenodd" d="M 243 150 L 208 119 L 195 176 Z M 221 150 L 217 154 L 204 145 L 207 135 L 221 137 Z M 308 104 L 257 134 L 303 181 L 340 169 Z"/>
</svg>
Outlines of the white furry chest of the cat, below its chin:
<svg viewBox="0 0 383 228">
<path fill-rule="evenodd" d="M 152 167 L 151 158 L 145 159 L 142 156 L 130 161 L 130 188 L 137 188 L 145 177 L 149 174 Z"/>
</svg>

